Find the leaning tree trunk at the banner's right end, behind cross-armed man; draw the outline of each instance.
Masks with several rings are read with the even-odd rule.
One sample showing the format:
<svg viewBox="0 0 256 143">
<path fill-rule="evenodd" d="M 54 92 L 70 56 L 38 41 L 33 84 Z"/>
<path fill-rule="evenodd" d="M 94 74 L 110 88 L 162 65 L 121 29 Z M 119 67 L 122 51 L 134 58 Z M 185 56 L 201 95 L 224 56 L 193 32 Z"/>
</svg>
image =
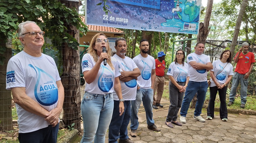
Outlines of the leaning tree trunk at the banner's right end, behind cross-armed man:
<svg viewBox="0 0 256 143">
<path fill-rule="evenodd" d="M 213 0 L 207 1 L 205 20 L 204 20 L 204 23 L 199 24 L 199 32 L 197 35 L 197 42 L 202 42 L 205 44 L 206 38 L 210 32 L 211 27 L 209 27 L 209 24 L 210 24 L 210 18 L 212 15 L 212 4 L 213 4 Z M 196 101 L 197 101 L 197 94 L 194 96 L 193 100 L 191 101 L 192 102 L 191 108 L 195 108 Z"/>
</svg>

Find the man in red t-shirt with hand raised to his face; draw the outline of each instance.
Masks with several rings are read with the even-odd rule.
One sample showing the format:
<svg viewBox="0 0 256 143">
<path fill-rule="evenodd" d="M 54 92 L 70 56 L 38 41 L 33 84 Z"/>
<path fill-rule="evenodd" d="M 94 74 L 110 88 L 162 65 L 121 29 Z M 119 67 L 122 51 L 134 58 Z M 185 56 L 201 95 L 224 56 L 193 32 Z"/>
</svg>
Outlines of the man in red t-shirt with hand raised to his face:
<svg viewBox="0 0 256 143">
<path fill-rule="evenodd" d="M 242 47 L 238 50 L 234 62 L 237 63 L 235 68 L 232 87 L 229 95 L 229 102 L 227 106 L 231 106 L 235 101 L 235 95 L 239 83 L 241 83 L 241 104 L 240 108 L 245 108 L 247 97 L 248 77 L 252 72 L 253 63 L 255 63 L 255 57 L 252 52 L 248 51 L 249 44 L 247 42 L 242 43 Z"/>
</svg>

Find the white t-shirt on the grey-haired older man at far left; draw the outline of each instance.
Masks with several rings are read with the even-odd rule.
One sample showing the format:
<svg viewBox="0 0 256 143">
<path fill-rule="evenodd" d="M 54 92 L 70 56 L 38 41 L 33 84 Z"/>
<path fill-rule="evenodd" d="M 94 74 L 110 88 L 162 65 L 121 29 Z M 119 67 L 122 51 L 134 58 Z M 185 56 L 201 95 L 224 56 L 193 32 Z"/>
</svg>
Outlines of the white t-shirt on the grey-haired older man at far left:
<svg viewBox="0 0 256 143">
<path fill-rule="evenodd" d="M 25 87 L 26 95 L 47 111 L 58 104 L 56 81 L 61 80 L 50 56 L 33 57 L 24 51 L 13 56 L 7 65 L 6 89 Z M 34 132 L 48 127 L 43 117 L 30 113 L 16 104 L 19 133 Z"/>
</svg>

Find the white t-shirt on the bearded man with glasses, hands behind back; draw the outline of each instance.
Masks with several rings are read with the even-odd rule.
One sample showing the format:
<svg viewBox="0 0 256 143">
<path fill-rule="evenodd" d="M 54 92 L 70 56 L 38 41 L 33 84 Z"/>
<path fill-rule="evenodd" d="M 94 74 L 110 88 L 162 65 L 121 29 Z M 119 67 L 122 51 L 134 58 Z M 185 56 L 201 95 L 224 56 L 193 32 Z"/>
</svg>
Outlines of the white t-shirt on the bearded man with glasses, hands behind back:
<svg viewBox="0 0 256 143">
<path fill-rule="evenodd" d="M 138 85 L 141 88 L 149 89 L 151 87 L 151 71 L 156 68 L 156 61 L 152 56 L 144 58 L 139 54 L 132 59 L 141 71 L 141 75 L 138 76 Z"/>
</svg>

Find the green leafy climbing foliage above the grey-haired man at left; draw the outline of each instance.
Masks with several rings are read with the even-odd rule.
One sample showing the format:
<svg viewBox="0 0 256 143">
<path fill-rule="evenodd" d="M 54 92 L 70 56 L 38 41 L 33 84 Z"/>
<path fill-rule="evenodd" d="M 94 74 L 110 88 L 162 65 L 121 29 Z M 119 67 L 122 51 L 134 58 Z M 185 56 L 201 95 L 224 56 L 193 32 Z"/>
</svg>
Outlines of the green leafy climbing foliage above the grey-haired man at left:
<svg viewBox="0 0 256 143">
<path fill-rule="evenodd" d="M 106 1 L 106 0 L 104 0 Z M 15 39 L 18 25 L 24 21 L 35 21 L 46 37 L 51 39 L 53 46 L 59 47 L 66 42 L 69 47 L 78 49 L 79 43 L 74 35 L 66 31 L 74 31 L 67 25 L 73 25 L 82 37 L 87 26 L 82 22 L 81 15 L 73 8 L 68 8 L 58 0 L 1 0 L 0 2 L 0 41 L 7 42 L 7 38 Z M 50 34 L 49 34 L 50 33 Z M 51 34 L 54 33 L 54 34 Z M 6 47 L 1 45 L 0 51 Z M 21 48 L 18 46 L 18 49 Z M 0 61 L 3 54 L 0 52 Z M 2 64 L 0 62 L 0 64 Z"/>
</svg>

